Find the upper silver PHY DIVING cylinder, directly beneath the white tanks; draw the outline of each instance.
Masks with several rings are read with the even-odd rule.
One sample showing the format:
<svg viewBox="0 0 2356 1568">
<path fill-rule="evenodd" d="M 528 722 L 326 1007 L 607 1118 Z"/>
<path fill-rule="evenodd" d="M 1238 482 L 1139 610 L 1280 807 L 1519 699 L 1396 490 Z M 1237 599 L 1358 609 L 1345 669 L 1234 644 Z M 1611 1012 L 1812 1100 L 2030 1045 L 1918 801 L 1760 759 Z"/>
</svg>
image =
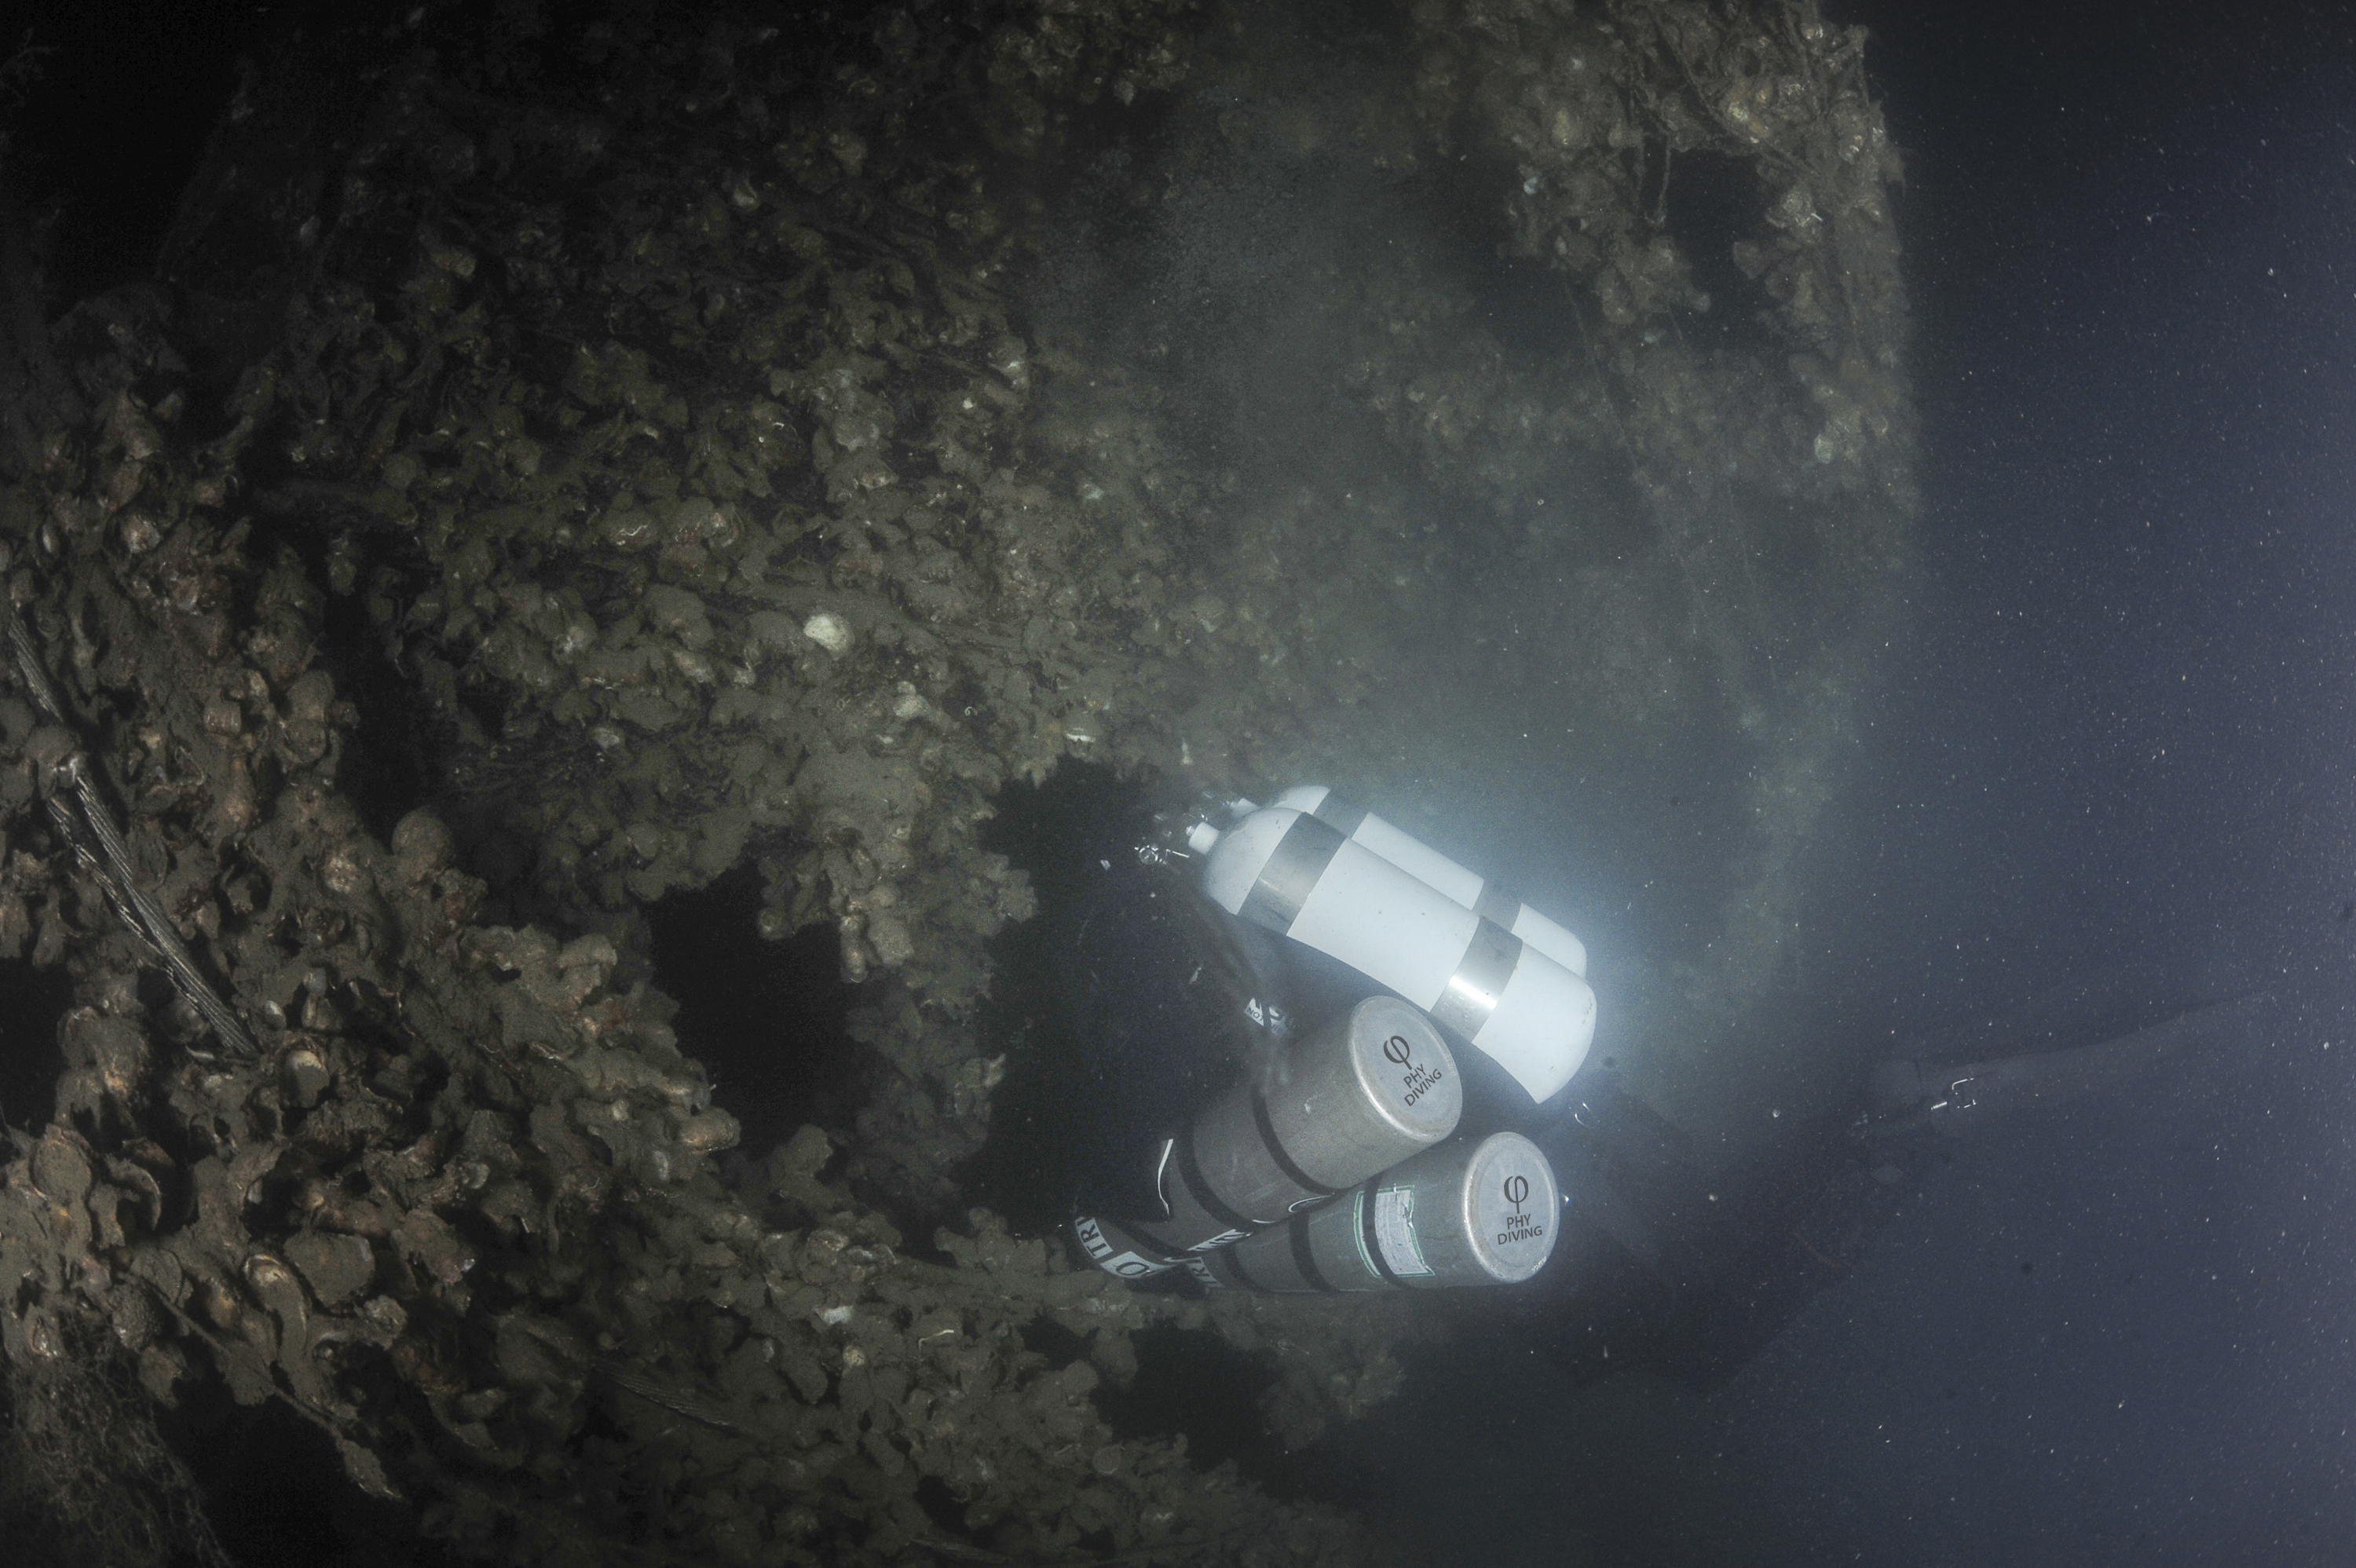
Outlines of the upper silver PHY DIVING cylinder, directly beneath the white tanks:
<svg viewBox="0 0 2356 1568">
<path fill-rule="evenodd" d="M 1456 1059 L 1432 1022 L 1369 996 L 1164 1140 L 1162 1220 L 1079 1215 L 1072 1234 L 1105 1274 L 1147 1278 L 1437 1144 L 1461 1111 Z"/>
</svg>

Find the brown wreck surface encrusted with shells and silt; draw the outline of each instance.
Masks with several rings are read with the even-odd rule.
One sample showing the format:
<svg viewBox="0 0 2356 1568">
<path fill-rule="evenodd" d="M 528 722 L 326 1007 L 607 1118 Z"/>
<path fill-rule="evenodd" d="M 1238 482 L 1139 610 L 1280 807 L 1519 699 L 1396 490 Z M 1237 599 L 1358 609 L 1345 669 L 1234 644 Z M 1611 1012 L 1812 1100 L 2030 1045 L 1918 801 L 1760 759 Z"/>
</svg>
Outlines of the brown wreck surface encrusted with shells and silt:
<svg viewBox="0 0 2356 1568">
<path fill-rule="evenodd" d="M 1133 1295 L 961 1198 L 1034 909 L 992 800 L 1079 758 L 1421 826 L 1736 746 L 1710 939 L 1623 972 L 1673 1071 L 1786 963 L 1899 619 L 1864 38 L 1046 0 L 280 45 L 153 283 L 7 259 L 0 958 L 71 1003 L 0 1344 L 158 1497 L 19 1453 L 9 1507 L 217 1554 L 153 1408 L 226 1389 L 452 1561 L 1376 1561 L 1091 1394 L 1220 1335 L 1298 1448 L 1437 1316 Z M 730 876 L 832 932 L 851 1125 L 737 1147 L 674 1026 L 648 911 Z"/>
</svg>

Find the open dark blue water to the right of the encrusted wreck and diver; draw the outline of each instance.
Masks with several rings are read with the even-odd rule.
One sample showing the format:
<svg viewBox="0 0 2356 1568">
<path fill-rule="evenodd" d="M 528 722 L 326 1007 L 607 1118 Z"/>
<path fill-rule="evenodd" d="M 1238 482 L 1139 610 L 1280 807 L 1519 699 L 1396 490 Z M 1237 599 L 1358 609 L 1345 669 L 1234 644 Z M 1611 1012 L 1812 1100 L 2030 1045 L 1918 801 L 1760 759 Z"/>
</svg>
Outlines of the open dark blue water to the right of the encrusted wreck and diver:
<svg viewBox="0 0 2356 1568">
<path fill-rule="evenodd" d="M 2344 1563 L 2356 31 L 1835 14 L 1908 158 L 1927 511 L 1816 984 L 1892 1031 L 2111 965 L 2281 1010 L 1958 1142 L 1713 1394 L 1498 1337 L 1322 1462 L 1430 1561 Z"/>
</svg>

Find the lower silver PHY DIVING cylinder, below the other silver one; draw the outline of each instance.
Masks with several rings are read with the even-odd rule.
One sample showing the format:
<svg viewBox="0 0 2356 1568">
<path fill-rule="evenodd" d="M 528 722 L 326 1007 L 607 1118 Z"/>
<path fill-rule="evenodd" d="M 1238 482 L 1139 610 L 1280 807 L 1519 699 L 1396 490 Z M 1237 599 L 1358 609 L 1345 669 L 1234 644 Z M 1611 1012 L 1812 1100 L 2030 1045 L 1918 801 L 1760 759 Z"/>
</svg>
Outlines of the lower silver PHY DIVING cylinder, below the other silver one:
<svg viewBox="0 0 2356 1568">
<path fill-rule="evenodd" d="M 1555 1255 L 1555 1168 L 1520 1132 L 1451 1142 L 1282 1227 L 1187 1260 L 1225 1290 L 1517 1285 Z"/>
</svg>

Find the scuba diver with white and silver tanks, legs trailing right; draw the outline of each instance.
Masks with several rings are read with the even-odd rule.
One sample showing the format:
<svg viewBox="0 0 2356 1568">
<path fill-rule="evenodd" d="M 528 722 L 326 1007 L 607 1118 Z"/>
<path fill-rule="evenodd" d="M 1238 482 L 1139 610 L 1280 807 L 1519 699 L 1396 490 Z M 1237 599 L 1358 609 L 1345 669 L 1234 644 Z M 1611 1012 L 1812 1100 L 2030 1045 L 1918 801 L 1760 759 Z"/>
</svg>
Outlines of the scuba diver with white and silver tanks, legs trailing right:
<svg viewBox="0 0 2356 1568">
<path fill-rule="evenodd" d="M 1114 812 L 1084 845 L 1039 873 L 1063 1008 L 1027 1052 L 1039 1081 L 1001 1095 L 1051 1118 L 1025 1184 L 1060 1194 L 1077 1257 L 1143 1288 L 1508 1285 L 1463 1311 L 1583 1382 L 1635 1363 L 1720 1382 L 1861 1260 L 1948 1140 L 2257 1005 L 2170 1017 L 2137 1001 L 2149 977 L 2080 984 L 1901 1048 L 1852 1104 L 1706 1172 L 1609 1055 L 1588 1062 L 1579 939 L 1381 817 L 1303 786 Z"/>
</svg>

